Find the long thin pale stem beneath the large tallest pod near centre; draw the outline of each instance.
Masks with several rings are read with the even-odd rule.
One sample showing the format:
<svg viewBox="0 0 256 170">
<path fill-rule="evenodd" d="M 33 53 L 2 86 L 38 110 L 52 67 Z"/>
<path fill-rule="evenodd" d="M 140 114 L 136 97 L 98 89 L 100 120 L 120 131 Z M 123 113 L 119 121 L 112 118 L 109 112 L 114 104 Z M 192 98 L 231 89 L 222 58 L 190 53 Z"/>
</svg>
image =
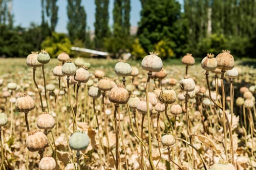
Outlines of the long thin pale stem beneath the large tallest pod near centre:
<svg viewBox="0 0 256 170">
<path fill-rule="evenodd" d="M 148 131 L 149 131 L 149 163 L 150 163 L 151 169 L 156 170 L 154 167 L 153 159 L 152 159 L 152 148 L 151 148 L 152 141 L 151 141 L 151 127 L 150 127 L 150 113 L 149 113 L 149 81 L 151 76 L 152 76 L 152 72 L 149 71 L 148 81 L 146 84 L 146 102 L 147 102 L 147 117 L 148 117 Z"/>
</svg>

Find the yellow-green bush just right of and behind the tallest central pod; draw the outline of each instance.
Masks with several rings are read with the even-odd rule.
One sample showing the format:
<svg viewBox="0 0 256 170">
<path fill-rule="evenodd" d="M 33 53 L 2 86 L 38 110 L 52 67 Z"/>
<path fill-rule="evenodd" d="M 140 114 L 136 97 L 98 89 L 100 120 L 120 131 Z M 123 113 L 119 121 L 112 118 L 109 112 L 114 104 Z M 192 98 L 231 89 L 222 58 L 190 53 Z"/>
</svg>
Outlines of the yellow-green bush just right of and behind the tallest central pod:
<svg viewBox="0 0 256 170">
<path fill-rule="evenodd" d="M 161 40 L 155 44 L 155 51 L 159 54 L 158 56 L 162 59 L 174 57 L 174 52 L 171 49 L 170 41 Z"/>
</svg>

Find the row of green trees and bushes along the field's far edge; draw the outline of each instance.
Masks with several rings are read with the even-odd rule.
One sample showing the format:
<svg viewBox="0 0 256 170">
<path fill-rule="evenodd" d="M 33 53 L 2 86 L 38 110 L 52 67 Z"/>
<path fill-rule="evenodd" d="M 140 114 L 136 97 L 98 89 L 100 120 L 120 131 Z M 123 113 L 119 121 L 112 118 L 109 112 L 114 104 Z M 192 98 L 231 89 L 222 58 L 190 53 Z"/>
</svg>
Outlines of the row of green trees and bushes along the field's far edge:
<svg viewBox="0 0 256 170">
<path fill-rule="evenodd" d="M 255 0 L 140 0 L 137 34 L 130 34 L 130 0 L 114 0 L 109 26 L 109 0 L 94 0 L 94 37 L 86 25 L 82 0 L 67 0 L 68 34 L 56 33 L 57 0 L 41 0 L 42 22 L 29 28 L 14 26 L 12 0 L 0 0 L 0 56 L 24 57 L 28 51 L 46 49 L 52 57 L 71 46 L 107 51 L 112 57 L 131 52 L 142 58 L 157 51 L 163 59 L 187 52 L 195 57 L 230 50 L 235 57 L 256 55 Z M 80 53 L 80 55 L 86 55 Z"/>
</svg>

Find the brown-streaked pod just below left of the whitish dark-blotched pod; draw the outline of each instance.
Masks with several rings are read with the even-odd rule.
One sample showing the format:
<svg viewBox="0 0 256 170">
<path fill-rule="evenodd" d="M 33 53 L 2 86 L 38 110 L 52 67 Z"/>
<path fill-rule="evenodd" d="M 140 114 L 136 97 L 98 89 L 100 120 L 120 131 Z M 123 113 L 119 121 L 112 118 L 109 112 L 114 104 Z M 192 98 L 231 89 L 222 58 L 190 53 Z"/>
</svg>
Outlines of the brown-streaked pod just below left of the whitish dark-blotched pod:
<svg viewBox="0 0 256 170">
<path fill-rule="evenodd" d="M 171 86 L 168 86 L 161 91 L 161 93 L 159 95 L 159 100 L 165 104 L 171 104 L 176 101 L 176 93 L 171 88 Z"/>
</svg>

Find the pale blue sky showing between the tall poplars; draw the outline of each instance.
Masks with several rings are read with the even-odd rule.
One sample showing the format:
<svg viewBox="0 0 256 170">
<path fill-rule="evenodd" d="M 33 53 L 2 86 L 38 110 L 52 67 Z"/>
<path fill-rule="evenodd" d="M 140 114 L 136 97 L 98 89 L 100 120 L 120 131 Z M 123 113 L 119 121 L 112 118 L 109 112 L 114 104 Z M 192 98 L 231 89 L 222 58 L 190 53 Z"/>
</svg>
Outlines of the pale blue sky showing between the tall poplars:
<svg viewBox="0 0 256 170">
<path fill-rule="evenodd" d="M 130 12 L 130 23 L 131 26 L 137 26 L 140 20 L 141 3 L 140 0 L 131 1 L 131 12 Z M 114 0 L 109 0 L 109 25 L 112 26 L 112 10 Z M 57 5 L 59 6 L 58 11 L 58 23 L 56 32 L 67 33 L 66 23 L 66 0 L 58 0 Z M 87 15 L 86 22 L 90 30 L 94 29 L 93 23 L 95 21 L 95 4 L 94 0 L 82 0 L 82 5 L 85 7 Z M 13 0 L 12 13 L 14 14 L 14 25 L 21 25 L 22 27 L 29 27 L 31 22 L 36 24 L 41 23 L 41 0 Z"/>
</svg>

